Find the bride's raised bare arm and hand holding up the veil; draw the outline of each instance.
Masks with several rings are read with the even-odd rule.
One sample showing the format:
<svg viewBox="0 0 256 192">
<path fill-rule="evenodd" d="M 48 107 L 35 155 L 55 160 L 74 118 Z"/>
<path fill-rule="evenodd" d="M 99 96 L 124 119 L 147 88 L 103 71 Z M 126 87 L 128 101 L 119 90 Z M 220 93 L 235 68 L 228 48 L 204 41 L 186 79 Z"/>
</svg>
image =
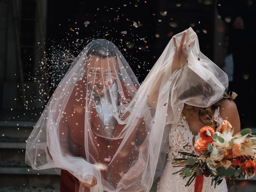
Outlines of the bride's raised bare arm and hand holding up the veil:
<svg viewBox="0 0 256 192">
<path fill-rule="evenodd" d="M 152 86 L 150 90 L 150 94 L 148 95 L 148 98 L 147 98 L 148 104 L 152 106 L 154 109 L 156 108 L 156 105 L 157 105 L 158 94 L 159 94 L 159 89 L 161 86 L 163 74 L 165 72 L 167 73 L 170 72 L 170 75 L 171 75 L 186 63 L 187 56 L 182 51 L 185 37 L 186 37 L 186 32 L 184 32 L 184 34 L 182 35 L 182 39 L 179 47 L 177 46 L 176 38 L 173 37 L 173 42 L 175 46 L 175 53 L 173 56 L 173 60 L 172 62 L 164 66 L 161 70 L 159 70 L 159 72 L 156 74 L 155 81 L 154 81 L 156 83 Z"/>
</svg>

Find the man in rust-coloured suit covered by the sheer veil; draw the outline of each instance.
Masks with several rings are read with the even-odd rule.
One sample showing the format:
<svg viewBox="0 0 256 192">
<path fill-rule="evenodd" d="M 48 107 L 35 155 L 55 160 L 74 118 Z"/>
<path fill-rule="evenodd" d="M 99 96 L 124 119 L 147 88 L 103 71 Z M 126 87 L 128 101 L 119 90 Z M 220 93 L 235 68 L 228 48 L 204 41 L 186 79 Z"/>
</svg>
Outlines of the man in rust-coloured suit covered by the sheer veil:
<svg viewBox="0 0 256 192">
<path fill-rule="evenodd" d="M 147 132 L 141 117 L 128 121 L 127 109 L 138 87 L 112 42 L 90 42 L 28 138 L 26 163 L 33 169 L 61 168 L 60 192 L 143 191 L 137 184 L 144 167 L 138 155 Z"/>
</svg>

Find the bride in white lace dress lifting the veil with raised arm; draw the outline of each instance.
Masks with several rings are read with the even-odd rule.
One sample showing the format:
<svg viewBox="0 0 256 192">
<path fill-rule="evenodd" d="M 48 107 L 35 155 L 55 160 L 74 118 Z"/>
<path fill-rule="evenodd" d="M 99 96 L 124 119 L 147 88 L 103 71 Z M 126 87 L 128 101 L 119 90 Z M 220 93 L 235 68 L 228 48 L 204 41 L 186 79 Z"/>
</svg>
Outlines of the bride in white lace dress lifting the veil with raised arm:
<svg viewBox="0 0 256 192">
<path fill-rule="evenodd" d="M 190 33 L 186 35 L 186 33 Z M 174 44 L 174 55 L 172 56 L 172 63 L 170 65 L 164 66 L 161 70 L 166 71 L 168 68 L 171 67 L 171 78 L 170 81 L 174 82 L 173 79 L 175 79 L 178 74 L 178 77 L 175 79 L 175 82 L 171 84 L 172 91 L 170 92 L 169 97 L 172 96 L 172 98 L 169 98 L 168 102 L 168 109 L 167 109 L 167 123 L 170 124 L 170 131 L 168 134 L 169 137 L 169 152 L 168 152 L 168 161 L 166 164 L 166 167 L 164 169 L 164 172 L 161 176 L 160 182 L 157 186 L 158 192 L 191 192 L 194 191 L 194 182 L 190 184 L 190 186 L 185 186 L 187 179 L 182 179 L 178 174 L 173 174 L 174 172 L 177 172 L 180 170 L 179 167 L 173 167 L 172 161 L 174 158 L 188 158 L 187 156 L 182 156 L 178 152 L 188 152 L 188 153 L 195 153 L 194 152 L 194 143 L 199 138 L 199 131 L 200 128 L 203 126 L 212 126 L 212 120 L 215 120 L 216 122 L 220 122 L 221 119 L 228 120 L 234 129 L 234 134 L 240 131 L 240 120 L 238 115 L 238 110 L 236 108 L 236 104 L 234 103 L 234 99 L 236 98 L 236 94 L 233 92 L 232 94 L 226 94 L 223 91 L 220 91 L 221 85 L 215 86 L 214 83 L 211 84 L 210 81 L 205 83 L 204 81 L 207 81 L 208 76 L 204 75 L 204 73 L 209 72 L 209 69 L 212 69 L 210 71 L 210 75 L 214 74 L 215 76 L 212 78 L 213 81 L 216 81 L 217 84 L 219 82 L 224 82 L 222 85 L 226 87 L 225 80 L 222 78 L 219 74 L 222 73 L 222 71 L 215 66 L 210 60 L 202 64 L 205 68 L 202 68 L 198 64 L 195 64 L 195 67 L 191 67 L 188 69 L 188 62 L 191 64 L 194 62 L 194 60 L 200 61 L 200 57 L 204 57 L 204 61 L 208 58 L 203 56 L 199 53 L 198 58 L 191 57 L 191 52 L 194 54 L 194 52 L 197 52 L 199 50 L 199 47 L 193 46 L 194 43 L 194 32 L 191 29 L 188 29 L 185 31 L 182 35 L 182 38 L 180 38 L 179 46 L 178 42 L 176 42 L 176 38 L 174 36 L 173 38 L 173 44 Z M 177 36 L 178 37 L 178 36 Z M 197 39 L 197 37 L 196 37 Z M 196 46 L 198 45 L 198 42 L 196 42 Z M 189 48 L 192 47 L 192 51 L 189 52 Z M 194 50 L 193 50 L 194 49 Z M 198 51 L 199 52 L 199 51 Z M 197 54 L 198 54 L 197 52 Z M 164 54 L 164 53 L 163 53 Z M 188 58 L 188 55 L 190 54 L 190 58 Z M 190 59 L 190 61 L 188 61 Z M 194 59 L 194 60 L 193 60 Z M 209 65 L 206 66 L 206 65 Z M 194 70 L 193 74 L 191 72 L 188 72 L 188 70 Z M 158 72 L 158 76 L 156 76 L 156 83 L 155 86 L 151 90 L 151 94 L 148 96 L 147 102 L 152 108 L 156 109 L 159 104 L 159 95 L 160 95 L 160 88 L 164 84 L 164 72 L 161 74 L 161 70 Z M 216 71 L 214 71 L 216 70 Z M 182 73 L 186 74 L 182 74 Z M 224 72 L 223 72 L 224 73 Z M 196 75 L 194 75 L 196 74 Z M 197 78 L 198 74 L 199 76 L 204 76 L 204 78 Z M 194 75 L 194 76 L 193 76 Z M 186 78 L 184 76 L 189 76 L 186 80 L 182 78 Z M 173 79 L 172 79 L 173 77 Z M 197 78 L 197 79 L 196 79 Z M 196 82 L 199 79 L 198 82 Z M 183 81 L 182 81 L 183 80 Z M 179 82 L 178 82 L 179 81 Z M 182 81 L 182 82 L 181 82 Z M 190 81 L 190 82 L 188 82 Z M 189 89 L 186 90 L 187 84 L 190 84 L 191 82 L 196 82 L 196 86 L 190 86 Z M 202 83 L 200 82 L 202 81 Z M 178 83 L 177 83 L 178 82 Z M 208 88 L 209 86 L 210 88 Z M 185 90 L 181 95 L 186 97 L 184 99 L 184 106 L 180 107 L 177 102 L 181 102 L 182 99 L 174 100 L 173 98 L 176 95 L 179 95 L 179 91 L 183 89 Z M 196 91 L 195 91 L 196 90 Z M 214 102 L 212 102 L 208 107 L 202 107 L 206 104 L 205 100 L 208 98 L 213 98 L 214 95 L 223 95 L 220 96 L 218 99 L 214 98 Z M 172 95 L 171 95 L 172 94 Z M 207 95 L 208 94 L 208 95 Z M 184 98 L 181 95 L 176 96 L 176 98 Z M 201 97 L 200 97 L 201 96 Z M 198 99 L 199 98 L 199 99 Z M 210 100 L 210 99 L 209 99 Z M 175 102 L 176 103 L 175 103 Z M 183 101 L 183 100 L 182 100 Z M 192 104 L 195 105 L 192 105 Z M 209 102 L 208 102 L 209 103 Z M 178 108 L 175 108 L 175 106 L 178 106 Z M 201 106 L 201 107 L 199 107 Z M 183 108 L 183 109 L 182 109 Z M 182 109 L 182 111 L 178 114 L 180 114 L 179 120 L 173 120 L 169 117 L 176 116 L 177 110 Z M 168 123 L 170 122 L 170 123 Z M 211 178 L 207 177 L 207 172 L 204 171 L 204 184 L 202 191 L 203 192 L 227 192 L 227 185 L 226 180 L 223 180 L 220 185 L 211 186 Z"/>
</svg>

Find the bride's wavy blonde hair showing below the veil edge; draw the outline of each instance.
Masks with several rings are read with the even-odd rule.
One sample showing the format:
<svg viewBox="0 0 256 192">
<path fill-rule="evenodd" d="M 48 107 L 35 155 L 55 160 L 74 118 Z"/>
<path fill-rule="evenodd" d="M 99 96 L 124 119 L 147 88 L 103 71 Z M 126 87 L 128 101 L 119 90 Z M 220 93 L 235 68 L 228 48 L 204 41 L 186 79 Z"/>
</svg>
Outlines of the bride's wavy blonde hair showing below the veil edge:
<svg viewBox="0 0 256 192">
<path fill-rule="evenodd" d="M 188 106 L 188 104 L 184 104 L 184 108 L 182 110 L 182 114 L 184 116 L 192 115 L 194 112 L 198 109 L 198 117 L 199 120 L 208 126 L 213 126 L 212 124 L 212 118 L 214 116 L 215 110 L 218 108 L 218 106 L 222 105 L 224 100 L 234 100 L 236 98 L 237 94 L 235 92 L 229 92 L 228 94 L 224 92 L 223 98 L 219 100 L 218 102 L 214 103 L 213 105 L 203 108 L 203 107 L 195 107 L 195 106 Z"/>
</svg>

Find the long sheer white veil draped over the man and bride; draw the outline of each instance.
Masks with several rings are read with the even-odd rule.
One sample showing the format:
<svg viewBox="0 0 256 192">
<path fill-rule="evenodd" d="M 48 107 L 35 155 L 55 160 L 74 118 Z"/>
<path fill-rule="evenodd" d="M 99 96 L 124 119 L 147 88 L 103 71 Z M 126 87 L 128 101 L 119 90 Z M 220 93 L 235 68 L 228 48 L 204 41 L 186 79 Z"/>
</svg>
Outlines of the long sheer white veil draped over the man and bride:
<svg viewBox="0 0 256 192">
<path fill-rule="evenodd" d="M 227 87 L 226 74 L 200 52 L 196 33 L 186 31 L 188 61 L 172 75 L 162 74 L 156 109 L 146 101 L 159 70 L 172 62 L 173 40 L 141 86 L 112 42 L 90 42 L 28 138 L 26 163 L 33 169 L 62 168 L 86 183 L 95 177 L 92 192 L 149 192 L 164 166 L 170 125 L 184 103 L 209 106 Z"/>
</svg>

